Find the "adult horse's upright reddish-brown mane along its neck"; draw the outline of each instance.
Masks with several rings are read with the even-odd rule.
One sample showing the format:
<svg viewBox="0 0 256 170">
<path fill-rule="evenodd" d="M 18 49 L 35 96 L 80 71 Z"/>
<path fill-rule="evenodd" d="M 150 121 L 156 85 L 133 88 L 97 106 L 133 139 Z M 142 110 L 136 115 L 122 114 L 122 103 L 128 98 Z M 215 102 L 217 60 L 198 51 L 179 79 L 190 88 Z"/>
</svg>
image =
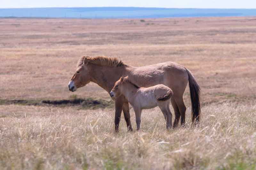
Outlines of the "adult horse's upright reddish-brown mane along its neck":
<svg viewBox="0 0 256 170">
<path fill-rule="evenodd" d="M 92 63 L 98 66 L 110 66 L 110 67 L 126 66 L 126 64 L 124 64 L 123 61 L 117 59 L 116 57 L 110 58 L 105 56 L 98 56 L 98 57 L 84 56 L 78 60 L 77 67 L 83 65 L 85 58 L 87 59 L 88 63 Z"/>
</svg>

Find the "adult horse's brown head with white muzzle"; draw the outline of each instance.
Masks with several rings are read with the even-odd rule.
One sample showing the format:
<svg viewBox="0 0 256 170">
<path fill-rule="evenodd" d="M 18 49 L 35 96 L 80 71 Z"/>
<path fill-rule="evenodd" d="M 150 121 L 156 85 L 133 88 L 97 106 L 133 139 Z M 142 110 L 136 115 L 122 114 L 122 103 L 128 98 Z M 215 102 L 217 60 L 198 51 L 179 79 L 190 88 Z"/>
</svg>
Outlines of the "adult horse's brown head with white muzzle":
<svg viewBox="0 0 256 170">
<path fill-rule="evenodd" d="M 83 59 L 83 60 L 82 60 Z M 68 83 L 68 89 L 72 92 L 76 89 L 85 86 L 91 81 L 91 76 L 88 70 L 88 60 L 86 57 L 78 61 L 76 73 L 72 76 Z"/>
</svg>

